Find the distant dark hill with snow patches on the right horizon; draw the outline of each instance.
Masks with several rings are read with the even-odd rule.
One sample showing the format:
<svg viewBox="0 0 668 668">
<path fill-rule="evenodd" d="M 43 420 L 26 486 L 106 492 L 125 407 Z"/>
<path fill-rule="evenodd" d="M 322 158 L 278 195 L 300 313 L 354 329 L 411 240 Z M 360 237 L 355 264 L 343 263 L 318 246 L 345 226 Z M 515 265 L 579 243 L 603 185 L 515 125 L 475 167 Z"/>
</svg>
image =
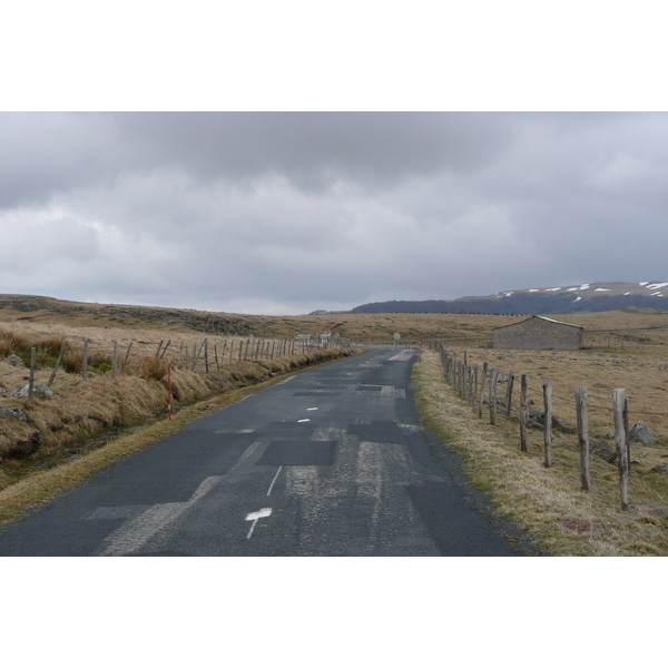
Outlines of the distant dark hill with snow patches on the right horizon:
<svg viewBox="0 0 668 668">
<path fill-rule="evenodd" d="M 512 289 L 483 297 L 374 302 L 351 313 L 499 313 L 567 314 L 625 307 L 668 311 L 668 282 L 583 283 L 558 287 Z"/>
</svg>

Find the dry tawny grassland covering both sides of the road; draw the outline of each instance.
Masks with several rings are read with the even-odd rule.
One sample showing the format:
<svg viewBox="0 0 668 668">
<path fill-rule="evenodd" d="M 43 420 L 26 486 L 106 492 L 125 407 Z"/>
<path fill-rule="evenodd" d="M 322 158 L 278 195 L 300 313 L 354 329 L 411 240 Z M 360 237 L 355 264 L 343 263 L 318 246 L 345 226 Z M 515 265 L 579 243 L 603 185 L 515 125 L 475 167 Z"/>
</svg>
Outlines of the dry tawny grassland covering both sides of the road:
<svg viewBox="0 0 668 668">
<path fill-rule="evenodd" d="M 261 338 L 269 342 L 264 350 L 271 356 L 273 342 L 282 338 L 292 341 L 297 334 L 316 335 L 328 331 L 342 338 L 348 337 L 353 343 L 369 345 L 392 344 L 393 334 L 400 333 L 402 343 L 416 341 L 419 336 L 425 342 L 438 338 L 459 358 L 463 358 L 465 351 L 469 364 L 482 366 L 487 362 L 504 375 L 512 370 L 518 379 L 515 389 L 519 387 L 519 375 L 528 374 L 530 396 L 537 409 L 542 409 L 542 382 L 551 380 L 554 414 L 571 423 L 576 422 L 573 390 L 577 385 L 587 385 L 590 434 L 593 436 L 613 431 L 611 391 L 623 387 L 629 401 L 630 423 L 644 420 L 657 432 L 659 440 L 652 446 L 631 448 L 635 461 L 630 494 L 633 510 L 622 514 L 618 510 L 616 465 L 592 456 L 595 489 L 589 494 L 579 490 L 578 449 L 573 434 L 554 432 L 554 465 L 546 470 L 541 465 L 542 433 L 539 430 L 529 431 L 531 456 L 522 455 L 519 453 L 517 422 L 511 424 L 510 435 L 503 438 L 502 430 L 500 433 L 499 429 L 480 421 L 454 391 L 439 380 L 438 362 L 435 366 L 433 362 L 428 363 L 431 353 L 425 352 L 424 365 L 416 369 L 416 373 L 423 375 L 431 370 L 432 386 L 423 391 L 423 399 L 429 397 L 426 403 L 423 401 L 423 410 L 431 406 L 432 413 L 439 415 L 444 436 L 451 432 L 460 436 L 463 434 L 459 440 L 460 445 L 464 443 L 462 453 L 465 454 L 469 449 L 470 454 L 475 456 L 475 465 L 470 469 L 473 479 L 498 497 L 501 512 L 520 520 L 533 536 L 541 537 L 541 546 L 548 553 L 668 553 L 666 519 L 660 510 L 668 508 L 668 474 L 652 471 L 658 463 L 668 462 L 666 312 L 626 310 L 557 316 L 556 320 L 586 328 L 584 350 L 501 351 L 487 347 L 493 328 L 518 322 L 524 316 L 325 314 L 279 317 L 217 314 L 232 323 L 230 328 L 244 332 L 243 336 L 220 336 L 203 327 L 202 323 L 206 322 L 208 314 L 197 312 L 197 320 L 193 321 L 194 312 L 189 311 L 110 311 L 104 305 L 90 304 L 80 305 L 80 308 L 77 306 L 68 313 L 41 307 L 26 311 L 0 302 L 0 387 L 6 390 L 0 393 L 0 406 L 20 407 L 30 415 L 29 423 L 0 416 L 0 489 L 24 475 L 31 462 L 43 461 L 48 464 L 49 458 L 62 459 L 63 454 L 75 456 L 86 451 L 86 448 L 81 448 L 86 439 L 117 425 L 137 424 L 164 413 L 164 366 L 156 369 L 154 360 L 160 342 L 171 342 L 161 361 L 163 365 L 167 357 L 176 363 L 180 353 L 179 369 L 175 371 L 175 403 L 188 404 L 225 389 L 258 382 L 295 369 L 289 360 L 271 357 L 264 361 L 264 371 L 258 372 L 259 362 L 239 362 L 242 342 L 257 343 Z M 183 320 L 179 320 L 181 315 Z M 210 373 L 205 373 L 203 360 L 193 373 L 187 366 L 191 363 L 193 351 L 205 336 L 208 340 Z M 7 342 L 12 337 L 14 347 L 21 348 L 24 362 L 29 358 L 26 346 L 35 345 L 38 348 L 36 382 L 40 384 L 45 384 L 50 376 L 62 338 L 67 338 L 73 357 L 80 356 L 84 341 L 88 338 L 88 377 L 84 381 L 76 360 L 70 360 L 69 373 L 61 369 L 56 376 L 52 385 L 55 397 L 9 397 L 13 387 L 28 381 L 26 366 L 12 366 L 4 361 L 11 352 L 11 345 Z M 110 364 L 114 342 L 118 344 L 119 363 L 130 343 L 132 347 L 125 372 L 119 372 L 112 382 Z M 250 379 L 254 375 L 256 377 Z M 438 383 L 442 386 L 438 387 Z M 505 385 L 500 385 L 500 394 L 504 393 L 504 389 Z M 515 390 L 515 407 L 519 407 L 518 394 Z M 41 434 L 41 442 L 39 450 L 31 452 L 30 438 L 36 430 Z M 471 430 L 475 432 L 474 436 Z M 23 443 L 24 454 L 20 455 L 19 448 L 19 455 L 16 456 L 11 450 L 16 449 L 18 442 Z M 487 459 L 490 465 L 483 465 Z M 524 469 L 518 469 L 518 462 L 525 464 Z M 519 470 L 522 471 L 521 481 L 513 478 Z M 550 485 L 556 487 L 552 489 Z M 529 510 L 531 504 L 538 504 L 538 510 Z M 600 517 L 596 514 L 598 507 L 603 513 Z M 626 527 L 623 530 L 620 528 L 622 524 Z"/>
</svg>

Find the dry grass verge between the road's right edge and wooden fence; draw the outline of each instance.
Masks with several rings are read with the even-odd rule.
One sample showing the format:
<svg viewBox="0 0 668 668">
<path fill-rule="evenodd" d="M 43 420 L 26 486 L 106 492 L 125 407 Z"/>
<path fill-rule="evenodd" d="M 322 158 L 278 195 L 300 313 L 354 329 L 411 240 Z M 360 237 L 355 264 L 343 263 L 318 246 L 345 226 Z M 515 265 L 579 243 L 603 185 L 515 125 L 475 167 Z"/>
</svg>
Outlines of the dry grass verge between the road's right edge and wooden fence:
<svg viewBox="0 0 668 668">
<path fill-rule="evenodd" d="M 542 432 L 531 432 L 529 453 L 511 432 L 479 420 L 445 383 L 439 356 L 423 352 L 413 367 L 419 409 L 445 444 L 463 459 L 471 482 L 495 511 L 519 525 L 551 556 L 666 556 L 668 519 L 657 513 L 665 493 L 651 477 L 631 477 L 631 511 L 619 502 L 617 468 L 591 458 L 592 491 L 580 489 L 579 455 L 556 443 L 553 465 L 542 464 Z"/>
</svg>

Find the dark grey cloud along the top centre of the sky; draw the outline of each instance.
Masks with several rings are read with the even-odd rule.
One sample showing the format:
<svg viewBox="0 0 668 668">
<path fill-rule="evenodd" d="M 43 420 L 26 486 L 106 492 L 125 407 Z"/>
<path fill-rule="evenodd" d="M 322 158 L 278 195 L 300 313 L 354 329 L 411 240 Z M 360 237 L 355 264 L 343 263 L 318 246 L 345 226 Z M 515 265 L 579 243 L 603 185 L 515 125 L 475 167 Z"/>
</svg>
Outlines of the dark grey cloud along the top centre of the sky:
<svg viewBox="0 0 668 668">
<path fill-rule="evenodd" d="M 494 114 L 128 114 L 115 120 L 157 164 L 200 177 L 281 174 L 307 189 L 473 169 L 511 136 L 508 117 Z"/>
</svg>

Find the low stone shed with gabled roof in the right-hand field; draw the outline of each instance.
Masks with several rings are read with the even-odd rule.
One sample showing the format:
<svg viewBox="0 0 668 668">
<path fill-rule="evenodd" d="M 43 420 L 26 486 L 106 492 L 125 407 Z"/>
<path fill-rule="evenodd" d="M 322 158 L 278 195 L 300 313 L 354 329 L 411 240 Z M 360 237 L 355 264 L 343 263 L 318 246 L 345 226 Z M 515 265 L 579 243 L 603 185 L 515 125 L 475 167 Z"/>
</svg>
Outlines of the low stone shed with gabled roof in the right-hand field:
<svg viewBox="0 0 668 668">
<path fill-rule="evenodd" d="M 493 331 L 495 348 L 572 351 L 583 346 L 584 328 L 534 315 Z"/>
</svg>

